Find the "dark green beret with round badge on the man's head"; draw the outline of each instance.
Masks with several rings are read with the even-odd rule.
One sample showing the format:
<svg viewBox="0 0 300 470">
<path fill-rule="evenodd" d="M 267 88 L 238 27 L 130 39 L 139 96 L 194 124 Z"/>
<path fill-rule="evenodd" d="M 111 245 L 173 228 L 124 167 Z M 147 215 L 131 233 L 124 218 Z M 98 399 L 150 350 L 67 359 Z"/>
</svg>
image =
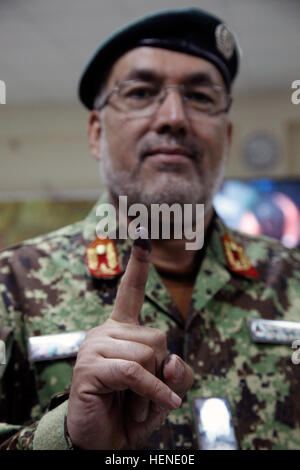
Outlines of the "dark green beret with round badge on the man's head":
<svg viewBox="0 0 300 470">
<path fill-rule="evenodd" d="M 198 8 L 153 13 L 123 27 L 97 49 L 79 83 L 80 100 L 88 109 L 93 109 L 101 83 L 114 62 L 139 46 L 202 57 L 217 67 L 229 91 L 238 71 L 235 37 L 219 18 Z"/>
</svg>

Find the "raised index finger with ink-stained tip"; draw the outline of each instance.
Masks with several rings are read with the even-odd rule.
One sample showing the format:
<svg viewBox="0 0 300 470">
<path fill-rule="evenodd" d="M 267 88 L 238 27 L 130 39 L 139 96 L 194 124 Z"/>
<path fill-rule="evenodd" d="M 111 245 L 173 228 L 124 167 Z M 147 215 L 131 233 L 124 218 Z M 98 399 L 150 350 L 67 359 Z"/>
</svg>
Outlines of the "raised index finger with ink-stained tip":
<svg viewBox="0 0 300 470">
<path fill-rule="evenodd" d="M 146 231 L 143 227 L 137 230 L 141 236 L 145 236 Z M 145 297 L 150 251 L 151 244 L 148 238 L 138 238 L 134 241 L 110 316 L 112 320 L 122 323 L 138 323 L 138 316 Z"/>
</svg>

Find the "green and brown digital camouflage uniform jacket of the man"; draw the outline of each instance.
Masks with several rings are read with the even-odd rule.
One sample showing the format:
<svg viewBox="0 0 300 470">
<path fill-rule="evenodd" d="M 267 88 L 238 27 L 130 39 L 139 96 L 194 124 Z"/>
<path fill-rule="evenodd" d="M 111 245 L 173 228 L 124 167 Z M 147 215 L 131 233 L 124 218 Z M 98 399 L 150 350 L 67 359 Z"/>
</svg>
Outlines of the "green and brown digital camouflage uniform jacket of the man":
<svg viewBox="0 0 300 470">
<path fill-rule="evenodd" d="M 67 398 L 75 359 L 27 360 L 33 335 L 88 330 L 113 307 L 120 276 L 94 279 L 85 262 L 99 218 L 88 218 L 0 254 L 0 335 L 7 366 L 0 366 L 3 449 L 32 449 L 40 417 Z M 227 264 L 221 237 L 244 246 L 259 279 Z M 242 449 L 300 449 L 300 364 L 289 345 L 254 343 L 248 318 L 300 322 L 300 253 L 268 238 L 227 229 L 215 217 L 183 320 L 153 266 L 140 322 L 167 334 L 168 348 L 190 364 L 195 384 L 180 409 L 153 434 L 147 448 L 197 448 L 191 400 L 227 397 Z M 124 271 L 131 241 L 117 242 Z M 65 393 L 63 393 L 65 392 Z"/>
</svg>

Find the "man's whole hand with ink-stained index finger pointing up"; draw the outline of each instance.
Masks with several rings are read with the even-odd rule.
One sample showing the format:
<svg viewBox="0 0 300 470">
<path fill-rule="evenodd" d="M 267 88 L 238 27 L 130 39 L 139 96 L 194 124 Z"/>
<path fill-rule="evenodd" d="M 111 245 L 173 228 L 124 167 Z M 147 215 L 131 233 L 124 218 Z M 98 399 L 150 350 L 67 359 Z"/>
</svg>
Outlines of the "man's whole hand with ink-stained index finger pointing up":
<svg viewBox="0 0 300 470">
<path fill-rule="evenodd" d="M 165 334 L 138 324 L 149 272 L 145 243 L 132 248 L 110 318 L 87 333 L 78 352 L 67 428 L 82 449 L 140 447 L 193 383 L 190 367 L 168 356 Z"/>
</svg>

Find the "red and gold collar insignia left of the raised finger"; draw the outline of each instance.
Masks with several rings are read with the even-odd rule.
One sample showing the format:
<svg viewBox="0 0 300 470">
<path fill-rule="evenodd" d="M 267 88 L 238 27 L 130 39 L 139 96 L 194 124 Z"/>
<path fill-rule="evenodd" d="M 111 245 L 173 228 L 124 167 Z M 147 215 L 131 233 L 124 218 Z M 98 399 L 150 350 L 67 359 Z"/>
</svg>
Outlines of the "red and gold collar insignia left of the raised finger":
<svg viewBox="0 0 300 470">
<path fill-rule="evenodd" d="M 121 273 L 116 243 L 109 238 L 96 238 L 86 250 L 86 264 L 97 278 L 112 278 Z"/>
</svg>

